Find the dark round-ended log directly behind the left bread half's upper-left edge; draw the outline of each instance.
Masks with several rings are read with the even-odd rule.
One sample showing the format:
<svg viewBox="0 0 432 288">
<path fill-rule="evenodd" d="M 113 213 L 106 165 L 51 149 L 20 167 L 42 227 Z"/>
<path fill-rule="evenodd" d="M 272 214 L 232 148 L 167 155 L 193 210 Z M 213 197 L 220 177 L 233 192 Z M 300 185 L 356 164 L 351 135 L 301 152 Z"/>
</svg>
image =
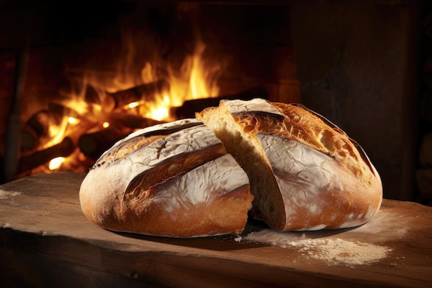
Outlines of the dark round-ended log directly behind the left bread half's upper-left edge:
<svg viewBox="0 0 432 288">
<path fill-rule="evenodd" d="M 81 135 L 78 146 L 84 155 L 97 160 L 102 153 L 110 148 L 115 142 L 132 133 L 132 129 L 105 128 L 94 133 Z"/>
</svg>

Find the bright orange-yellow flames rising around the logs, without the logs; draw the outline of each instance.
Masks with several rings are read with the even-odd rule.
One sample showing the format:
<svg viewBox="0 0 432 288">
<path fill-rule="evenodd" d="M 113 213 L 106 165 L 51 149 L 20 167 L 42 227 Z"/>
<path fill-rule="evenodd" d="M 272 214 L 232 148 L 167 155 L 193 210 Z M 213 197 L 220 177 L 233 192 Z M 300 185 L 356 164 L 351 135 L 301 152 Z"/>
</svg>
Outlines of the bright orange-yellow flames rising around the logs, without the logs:
<svg viewBox="0 0 432 288">
<path fill-rule="evenodd" d="M 184 101 L 198 99 L 201 97 L 216 97 L 219 95 L 217 78 L 222 70 L 220 64 L 209 65 L 206 61 L 206 45 L 202 41 L 197 41 L 195 50 L 190 55 L 186 55 L 180 68 L 175 69 L 169 63 L 159 63 L 161 60 L 148 59 L 142 64 L 139 75 L 134 75 L 134 68 L 138 65 L 135 61 L 137 51 L 132 44 L 133 41 L 126 41 L 128 53 L 124 59 L 119 61 L 116 73 L 111 76 L 103 77 L 88 70 L 81 79 L 77 80 L 76 87 L 70 91 L 62 91 L 61 105 L 70 108 L 75 114 L 64 115 L 60 124 L 50 125 L 51 140 L 43 147 L 49 147 L 60 143 L 65 136 L 74 134 L 81 129 L 81 135 L 92 131 L 115 126 L 110 121 L 109 113 L 125 113 L 139 115 L 147 119 L 169 122 L 175 120 L 170 115 L 172 107 L 181 106 Z M 161 66 L 164 67 L 161 71 Z M 136 71 L 136 69 L 135 69 Z M 117 91 L 134 88 L 143 84 L 152 84 L 164 80 L 168 87 L 157 91 L 153 97 L 135 99 L 126 105 L 115 107 L 110 111 L 104 106 L 104 99 L 108 95 Z M 88 89 L 92 89 L 97 94 L 95 101 L 88 101 Z M 75 142 L 78 137 L 74 136 Z M 50 171 L 59 170 L 62 166 L 70 166 L 73 161 L 81 161 L 83 158 L 79 149 L 76 149 L 69 157 L 55 157 L 48 165 Z M 75 160 L 73 160 L 75 157 Z"/>
</svg>

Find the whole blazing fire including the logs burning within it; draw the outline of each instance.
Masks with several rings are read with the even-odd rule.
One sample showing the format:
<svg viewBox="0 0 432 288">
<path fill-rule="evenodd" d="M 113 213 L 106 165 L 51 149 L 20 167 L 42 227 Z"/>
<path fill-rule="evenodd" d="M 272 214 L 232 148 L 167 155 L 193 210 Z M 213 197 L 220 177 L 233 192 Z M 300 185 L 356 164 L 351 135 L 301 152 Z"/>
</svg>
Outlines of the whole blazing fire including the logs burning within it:
<svg viewBox="0 0 432 288">
<path fill-rule="evenodd" d="M 132 68 L 137 65 L 132 57 L 135 50 L 119 61 L 113 77 L 101 77 L 95 72 L 87 71 L 70 91 L 61 91 L 62 99 L 57 104 L 69 112 L 63 115 L 60 123 L 50 123 L 50 140 L 38 148 L 41 150 L 57 145 L 59 149 L 68 151 L 70 147 L 63 141 L 68 137 L 75 146 L 75 151 L 70 155 L 53 155 L 47 169 L 61 171 L 63 167 L 68 171 L 71 166 L 76 167 L 77 162 L 88 163 L 89 157 L 84 155 L 86 153 L 80 146 L 82 135 L 94 134 L 95 141 L 105 144 L 98 137 L 106 137 L 110 141 L 115 140 L 114 136 L 126 137 L 137 128 L 144 128 L 146 123 L 149 126 L 175 120 L 173 107 L 181 106 L 186 100 L 217 97 L 217 78 L 222 66 L 208 64 L 205 51 L 206 45 L 197 41 L 195 50 L 186 55 L 179 68 L 175 69 L 166 63 L 163 71 L 159 70 L 160 63 L 156 65 L 156 61 L 148 59 L 142 64 L 139 79 L 137 75 L 132 75 Z M 141 122 L 143 127 L 137 124 Z M 88 168 L 83 171 L 86 169 Z M 72 170 L 77 171 L 74 168 Z"/>
</svg>

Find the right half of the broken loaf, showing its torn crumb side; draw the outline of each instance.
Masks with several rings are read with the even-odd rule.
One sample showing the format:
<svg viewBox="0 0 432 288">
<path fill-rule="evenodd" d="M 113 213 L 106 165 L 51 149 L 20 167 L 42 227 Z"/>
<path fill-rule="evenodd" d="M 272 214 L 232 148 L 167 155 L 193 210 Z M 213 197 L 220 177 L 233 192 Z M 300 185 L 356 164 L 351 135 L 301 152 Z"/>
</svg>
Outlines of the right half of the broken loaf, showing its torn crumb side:
<svg viewBox="0 0 432 288">
<path fill-rule="evenodd" d="M 355 227 L 382 202 L 362 148 L 301 105 L 222 100 L 196 117 L 248 174 L 251 214 L 279 231 Z"/>
</svg>

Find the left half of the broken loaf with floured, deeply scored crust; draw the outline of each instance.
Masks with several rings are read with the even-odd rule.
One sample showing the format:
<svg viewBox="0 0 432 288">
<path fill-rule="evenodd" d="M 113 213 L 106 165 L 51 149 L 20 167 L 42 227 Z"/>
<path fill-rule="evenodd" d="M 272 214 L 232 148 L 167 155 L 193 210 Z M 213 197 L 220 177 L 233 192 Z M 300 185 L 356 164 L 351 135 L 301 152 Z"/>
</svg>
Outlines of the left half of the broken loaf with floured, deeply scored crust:
<svg viewBox="0 0 432 288">
<path fill-rule="evenodd" d="M 132 133 L 81 183 L 86 217 L 113 231 L 197 237 L 240 233 L 253 196 L 248 177 L 197 119 Z"/>
</svg>

